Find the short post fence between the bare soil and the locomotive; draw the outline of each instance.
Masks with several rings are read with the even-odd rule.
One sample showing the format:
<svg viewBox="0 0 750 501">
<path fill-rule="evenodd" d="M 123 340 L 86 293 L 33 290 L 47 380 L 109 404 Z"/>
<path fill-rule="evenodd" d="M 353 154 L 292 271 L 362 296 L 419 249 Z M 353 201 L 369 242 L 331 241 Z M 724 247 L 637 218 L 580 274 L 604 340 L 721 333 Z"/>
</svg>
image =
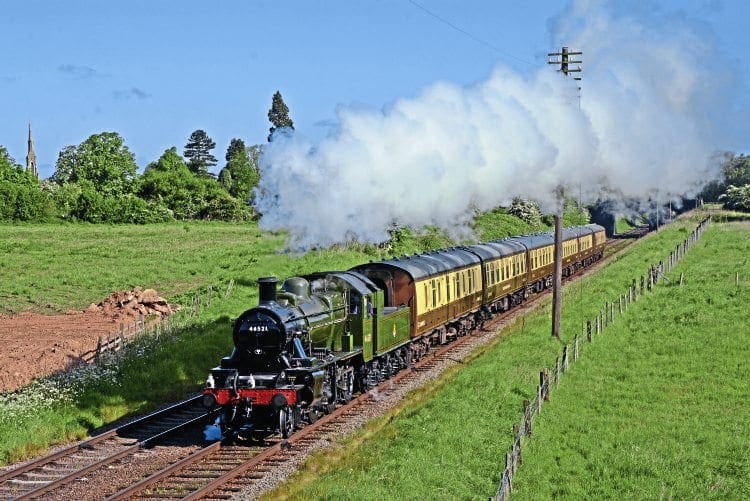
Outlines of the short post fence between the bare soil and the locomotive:
<svg viewBox="0 0 750 501">
<path fill-rule="evenodd" d="M 229 299 L 233 288 L 234 279 L 227 284 L 223 295 L 224 299 Z M 117 331 L 106 336 L 99 336 L 96 348 L 82 354 L 81 359 L 87 363 L 96 363 L 102 357 L 111 356 L 144 336 L 152 336 L 158 340 L 163 335 L 174 334 L 193 323 L 192 319 L 198 317 L 201 312 L 211 308 L 213 295 L 213 285 L 209 285 L 205 288 L 205 291 L 199 289 L 193 294 L 192 306 L 189 310 L 182 310 L 158 322 L 148 324 L 143 315 L 139 315 L 132 323 L 120 323 L 120 328 Z"/>
</svg>

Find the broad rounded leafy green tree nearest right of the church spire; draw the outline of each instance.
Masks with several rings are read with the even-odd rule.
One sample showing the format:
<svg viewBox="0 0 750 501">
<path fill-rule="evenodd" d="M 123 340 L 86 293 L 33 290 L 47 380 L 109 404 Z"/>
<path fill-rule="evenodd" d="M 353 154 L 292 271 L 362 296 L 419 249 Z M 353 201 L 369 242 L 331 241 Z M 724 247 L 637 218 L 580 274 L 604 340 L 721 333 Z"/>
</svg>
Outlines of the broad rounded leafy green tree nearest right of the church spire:
<svg viewBox="0 0 750 501">
<path fill-rule="evenodd" d="M 102 132 L 63 149 L 52 178 L 58 184 L 89 181 L 102 195 L 116 197 L 132 193 L 137 170 L 135 156 L 122 137 Z"/>
</svg>

